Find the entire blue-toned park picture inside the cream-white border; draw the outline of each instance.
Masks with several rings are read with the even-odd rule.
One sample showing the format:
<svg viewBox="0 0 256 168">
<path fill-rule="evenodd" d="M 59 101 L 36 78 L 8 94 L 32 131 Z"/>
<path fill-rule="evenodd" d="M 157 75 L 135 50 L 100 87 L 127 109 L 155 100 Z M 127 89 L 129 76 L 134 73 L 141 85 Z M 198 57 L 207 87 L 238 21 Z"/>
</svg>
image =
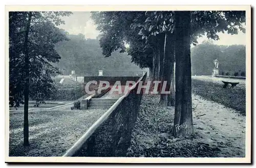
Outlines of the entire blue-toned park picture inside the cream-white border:
<svg viewBox="0 0 256 168">
<path fill-rule="evenodd" d="M 9 157 L 246 157 L 245 11 L 8 15 Z"/>
</svg>

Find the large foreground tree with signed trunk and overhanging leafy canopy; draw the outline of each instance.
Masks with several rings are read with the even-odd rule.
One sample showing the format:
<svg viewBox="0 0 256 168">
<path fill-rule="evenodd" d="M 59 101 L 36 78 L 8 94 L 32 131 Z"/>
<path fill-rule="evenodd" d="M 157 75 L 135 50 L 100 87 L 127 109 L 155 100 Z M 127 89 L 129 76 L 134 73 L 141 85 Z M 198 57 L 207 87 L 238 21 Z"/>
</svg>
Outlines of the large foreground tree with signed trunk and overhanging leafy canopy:
<svg viewBox="0 0 256 168">
<path fill-rule="evenodd" d="M 176 103 L 173 132 L 175 136 L 179 134 L 183 136 L 191 135 L 193 133 L 193 122 L 191 109 L 190 44 L 197 45 L 197 38 L 202 37 L 205 33 L 207 38 L 219 40 L 217 34 L 219 32 L 224 33 L 224 31 L 226 31 L 231 35 L 238 34 L 239 30 L 245 32 L 243 27 L 245 22 L 245 11 L 150 11 L 144 12 L 146 18 L 143 17 L 143 12 L 134 13 L 136 16 L 139 16 L 139 18 L 134 16 L 134 14 L 127 12 L 100 12 L 96 15 L 98 29 L 105 35 L 105 37 L 108 37 L 108 35 L 111 34 L 111 36 L 108 37 L 108 43 L 105 44 L 104 41 L 102 41 L 101 47 L 105 47 L 103 50 L 108 50 L 110 53 L 113 48 L 114 50 L 121 49 L 122 51 L 123 41 L 127 40 L 133 42 L 135 40 L 131 40 L 129 36 L 126 36 L 126 32 L 129 32 L 129 27 L 135 27 L 135 29 L 130 30 L 132 34 L 136 34 L 136 31 L 134 30 L 137 30 L 137 27 L 139 27 L 140 31 L 138 35 L 141 36 L 142 40 L 145 39 L 145 44 L 141 45 L 144 47 L 140 50 L 147 48 L 147 46 L 150 46 L 148 48 L 152 48 L 151 58 L 153 67 L 151 68 L 153 69 L 153 76 L 159 78 L 159 65 L 164 65 L 159 63 L 159 60 L 161 60 L 159 59 L 160 53 L 168 51 L 166 46 L 163 47 L 160 43 L 165 41 L 164 44 L 166 45 L 166 37 L 168 37 L 169 33 L 174 33 Z M 131 20 L 135 23 L 131 23 Z M 173 27 L 175 27 L 175 29 L 173 29 Z M 162 36 L 163 34 L 166 34 L 166 36 Z M 164 95 L 162 95 L 162 98 L 163 101 L 166 101 Z M 180 131 L 180 125 L 182 127 L 185 125 L 182 122 L 185 122 L 186 129 Z M 177 130 L 175 129 L 175 126 L 178 126 Z"/>
</svg>

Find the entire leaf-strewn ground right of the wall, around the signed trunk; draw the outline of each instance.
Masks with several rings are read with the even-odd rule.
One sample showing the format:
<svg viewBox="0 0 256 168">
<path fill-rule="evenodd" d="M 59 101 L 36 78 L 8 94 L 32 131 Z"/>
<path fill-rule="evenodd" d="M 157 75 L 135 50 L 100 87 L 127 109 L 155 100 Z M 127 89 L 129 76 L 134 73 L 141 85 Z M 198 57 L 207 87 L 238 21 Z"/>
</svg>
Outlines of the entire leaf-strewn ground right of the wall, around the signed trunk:
<svg viewBox="0 0 256 168">
<path fill-rule="evenodd" d="M 245 157 L 245 117 L 232 108 L 193 95 L 195 133 L 172 136 L 174 107 L 144 95 L 128 157 Z"/>
</svg>

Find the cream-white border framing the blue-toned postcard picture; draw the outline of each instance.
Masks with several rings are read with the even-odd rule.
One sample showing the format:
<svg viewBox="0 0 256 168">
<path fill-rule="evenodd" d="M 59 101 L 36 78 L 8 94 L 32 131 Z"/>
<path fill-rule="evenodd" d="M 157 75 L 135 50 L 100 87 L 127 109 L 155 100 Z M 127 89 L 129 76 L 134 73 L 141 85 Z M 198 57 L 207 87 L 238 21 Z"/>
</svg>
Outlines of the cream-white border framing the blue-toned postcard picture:
<svg viewBox="0 0 256 168">
<path fill-rule="evenodd" d="M 9 64 L 8 64 L 8 11 L 140 11 L 140 10 L 245 10 L 246 11 L 246 157 L 245 158 L 121 158 L 121 157 L 9 157 Z M 6 6 L 5 55 L 5 161 L 6 162 L 105 162 L 105 163 L 249 163 L 251 155 L 251 10 L 250 6 Z"/>
</svg>

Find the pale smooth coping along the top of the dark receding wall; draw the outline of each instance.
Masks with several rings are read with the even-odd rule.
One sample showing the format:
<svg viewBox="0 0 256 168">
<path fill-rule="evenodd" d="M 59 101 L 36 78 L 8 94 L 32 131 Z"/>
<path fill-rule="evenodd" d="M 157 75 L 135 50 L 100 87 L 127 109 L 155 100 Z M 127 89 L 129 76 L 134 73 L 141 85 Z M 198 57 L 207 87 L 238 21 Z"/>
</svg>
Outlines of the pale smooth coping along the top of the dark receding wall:
<svg viewBox="0 0 256 168">
<path fill-rule="evenodd" d="M 146 74 L 145 74 L 146 75 Z M 131 89 L 129 91 L 131 91 L 132 89 L 134 89 L 139 81 L 141 81 L 143 78 L 140 77 L 139 80 L 136 82 L 136 84 L 131 87 Z M 90 138 L 90 136 L 96 131 L 96 129 L 103 123 L 105 122 L 108 117 L 112 114 L 112 112 L 117 108 L 117 106 L 122 102 L 122 100 L 130 93 L 127 92 L 125 95 L 123 95 L 122 97 L 120 97 L 87 131 L 86 133 L 84 133 L 79 139 L 78 141 L 70 148 L 68 149 L 64 155 L 62 155 L 62 157 L 70 157 L 73 156 L 81 147 L 82 145 L 87 141 L 87 139 Z"/>
</svg>

